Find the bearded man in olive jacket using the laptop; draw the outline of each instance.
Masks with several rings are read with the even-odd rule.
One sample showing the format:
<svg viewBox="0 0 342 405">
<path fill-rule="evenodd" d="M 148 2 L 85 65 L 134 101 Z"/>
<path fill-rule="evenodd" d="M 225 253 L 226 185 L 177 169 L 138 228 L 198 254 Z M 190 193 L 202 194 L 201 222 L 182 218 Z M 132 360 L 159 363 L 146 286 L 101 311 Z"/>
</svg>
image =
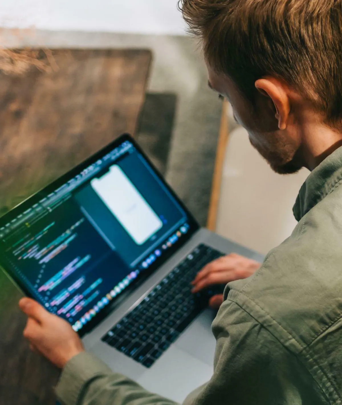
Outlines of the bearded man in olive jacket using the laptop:
<svg viewBox="0 0 342 405">
<path fill-rule="evenodd" d="M 298 225 L 260 269 L 228 256 L 195 279 L 195 290 L 236 281 L 213 323 L 214 375 L 184 403 L 340 404 L 342 1 L 182 0 L 181 8 L 201 39 L 210 87 L 231 102 L 252 145 L 278 173 L 312 172 L 295 203 Z M 34 301 L 20 307 L 32 348 L 63 368 L 62 402 L 172 403 L 111 373 Z"/>
</svg>

